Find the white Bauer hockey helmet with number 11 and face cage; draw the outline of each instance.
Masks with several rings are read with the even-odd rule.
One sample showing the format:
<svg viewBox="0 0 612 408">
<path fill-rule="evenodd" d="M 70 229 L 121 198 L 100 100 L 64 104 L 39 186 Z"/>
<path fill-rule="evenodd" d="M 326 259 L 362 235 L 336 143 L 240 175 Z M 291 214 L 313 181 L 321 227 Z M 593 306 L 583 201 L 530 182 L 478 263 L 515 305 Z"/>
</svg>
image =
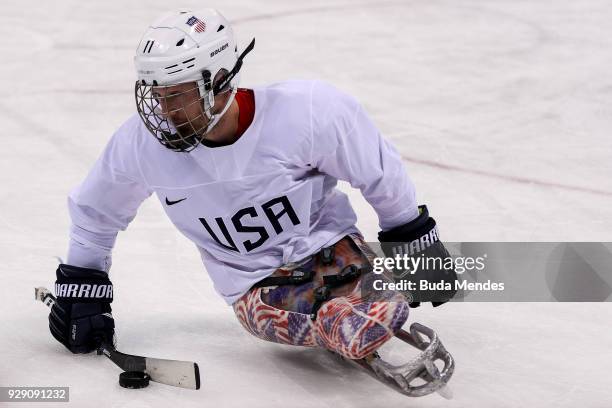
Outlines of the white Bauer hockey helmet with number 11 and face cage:
<svg viewBox="0 0 612 408">
<path fill-rule="evenodd" d="M 242 59 L 254 45 L 252 40 L 238 55 L 229 21 L 214 9 L 167 13 L 149 26 L 134 57 L 136 107 L 145 126 L 162 145 L 185 152 L 200 144 L 231 105 Z M 168 97 L 160 89 L 179 84 L 193 84 L 193 88 L 181 92 L 197 91 L 199 99 L 193 103 L 201 106 L 200 118 L 207 120 L 192 117 L 184 123 L 173 123 L 168 119 L 169 103 L 163 100 Z M 223 92 L 231 92 L 230 97 L 223 109 L 213 114 L 215 95 Z M 164 106 L 166 112 L 162 114 Z M 185 108 L 173 106 L 171 112 Z"/>
</svg>

